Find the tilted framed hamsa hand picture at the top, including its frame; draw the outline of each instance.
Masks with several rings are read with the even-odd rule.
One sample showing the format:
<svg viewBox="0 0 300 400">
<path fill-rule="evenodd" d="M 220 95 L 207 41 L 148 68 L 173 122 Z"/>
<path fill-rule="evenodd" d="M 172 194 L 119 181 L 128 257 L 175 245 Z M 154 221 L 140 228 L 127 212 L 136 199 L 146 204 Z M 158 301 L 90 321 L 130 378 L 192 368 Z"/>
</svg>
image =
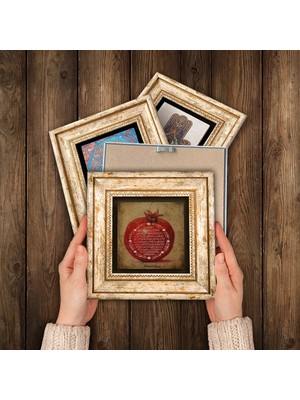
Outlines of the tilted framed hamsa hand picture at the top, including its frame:
<svg viewBox="0 0 300 400">
<path fill-rule="evenodd" d="M 246 115 L 156 73 L 140 96 L 151 95 L 170 144 L 229 147 Z"/>
</svg>

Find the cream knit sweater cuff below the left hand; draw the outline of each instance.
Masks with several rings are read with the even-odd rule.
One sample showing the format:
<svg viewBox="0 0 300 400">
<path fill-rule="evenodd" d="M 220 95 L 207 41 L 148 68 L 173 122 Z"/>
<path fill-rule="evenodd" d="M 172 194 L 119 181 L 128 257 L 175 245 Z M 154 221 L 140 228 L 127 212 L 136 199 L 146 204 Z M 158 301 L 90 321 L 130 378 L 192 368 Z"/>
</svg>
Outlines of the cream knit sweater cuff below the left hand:
<svg viewBox="0 0 300 400">
<path fill-rule="evenodd" d="M 47 324 L 41 350 L 88 350 L 90 328 Z"/>
</svg>

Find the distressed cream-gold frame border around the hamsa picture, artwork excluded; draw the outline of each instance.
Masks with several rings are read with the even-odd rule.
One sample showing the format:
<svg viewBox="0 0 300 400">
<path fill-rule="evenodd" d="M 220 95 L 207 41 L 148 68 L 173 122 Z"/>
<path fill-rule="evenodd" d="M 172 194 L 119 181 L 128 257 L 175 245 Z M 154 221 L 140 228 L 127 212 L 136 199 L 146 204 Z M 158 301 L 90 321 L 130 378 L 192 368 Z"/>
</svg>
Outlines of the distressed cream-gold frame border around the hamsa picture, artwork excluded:
<svg viewBox="0 0 300 400">
<path fill-rule="evenodd" d="M 181 83 L 156 73 L 140 96 L 151 95 L 155 106 L 165 98 L 215 123 L 204 146 L 229 147 L 246 115 Z"/>
</svg>

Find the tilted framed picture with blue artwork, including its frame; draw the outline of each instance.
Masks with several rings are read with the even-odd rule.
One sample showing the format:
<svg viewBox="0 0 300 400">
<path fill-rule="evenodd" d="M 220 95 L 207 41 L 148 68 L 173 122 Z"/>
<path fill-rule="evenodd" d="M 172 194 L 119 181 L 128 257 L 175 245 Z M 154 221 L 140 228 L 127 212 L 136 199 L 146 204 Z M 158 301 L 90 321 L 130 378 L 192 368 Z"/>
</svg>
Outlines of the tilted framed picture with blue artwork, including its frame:
<svg viewBox="0 0 300 400">
<path fill-rule="evenodd" d="M 86 214 L 89 171 L 101 171 L 105 142 L 168 143 L 150 96 L 50 131 L 64 196 L 76 232 Z"/>
</svg>

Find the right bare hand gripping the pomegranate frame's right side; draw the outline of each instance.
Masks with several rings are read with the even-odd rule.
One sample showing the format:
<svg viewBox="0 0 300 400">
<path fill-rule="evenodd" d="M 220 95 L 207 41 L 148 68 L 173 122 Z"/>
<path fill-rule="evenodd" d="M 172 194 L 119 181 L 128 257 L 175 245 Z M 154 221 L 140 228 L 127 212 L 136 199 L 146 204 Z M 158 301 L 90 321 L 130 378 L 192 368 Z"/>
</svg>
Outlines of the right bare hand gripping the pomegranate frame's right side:
<svg viewBox="0 0 300 400">
<path fill-rule="evenodd" d="M 216 255 L 215 260 L 217 278 L 215 298 L 206 300 L 211 322 L 243 316 L 243 271 L 238 266 L 233 248 L 218 222 L 215 230 L 221 252 Z"/>
</svg>

